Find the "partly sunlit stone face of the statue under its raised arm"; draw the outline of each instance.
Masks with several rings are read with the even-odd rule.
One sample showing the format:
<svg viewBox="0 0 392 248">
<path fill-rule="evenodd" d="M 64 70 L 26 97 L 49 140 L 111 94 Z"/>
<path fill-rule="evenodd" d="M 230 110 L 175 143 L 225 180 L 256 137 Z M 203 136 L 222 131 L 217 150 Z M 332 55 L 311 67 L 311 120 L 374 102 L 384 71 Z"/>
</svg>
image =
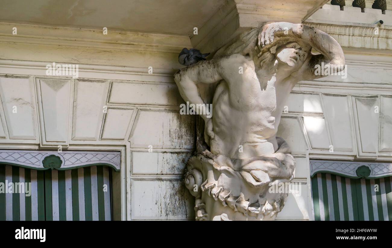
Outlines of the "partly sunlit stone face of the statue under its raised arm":
<svg viewBox="0 0 392 248">
<path fill-rule="evenodd" d="M 299 69 L 309 54 L 309 48 L 290 42 L 276 49 L 276 58 L 283 67 Z"/>
</svg>

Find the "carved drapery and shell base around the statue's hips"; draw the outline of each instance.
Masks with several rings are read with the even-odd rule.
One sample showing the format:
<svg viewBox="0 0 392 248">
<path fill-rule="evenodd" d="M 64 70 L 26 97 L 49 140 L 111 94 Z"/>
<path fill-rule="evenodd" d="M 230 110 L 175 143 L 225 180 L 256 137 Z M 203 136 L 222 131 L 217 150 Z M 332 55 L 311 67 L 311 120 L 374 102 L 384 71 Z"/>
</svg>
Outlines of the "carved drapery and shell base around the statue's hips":
<svg viewBox="0 0 392 248">
<path fill-rule="evenodd" d="M 288 193 L 271 193 L 269 189 L 276 183 L 291 181 L 295 168 L 289 146 L 282 138 L 277 140 L 278 150 L 270 155 L 230 159 L 205 150 L 191 157 L 185 185 L 196 197 L 196 220 L 212 220 L 218 215 L 227 219 L 228 212 L 241 213 L 247 220 L 273 220 L 283 208 Z M 205 205 L 211 199 L 214 205 L 224 208 L 215 207 L 214 213 L 210 213 Z M 224 213 L 217 213 L 216 209 L 223 209 Z"/>
</svg>

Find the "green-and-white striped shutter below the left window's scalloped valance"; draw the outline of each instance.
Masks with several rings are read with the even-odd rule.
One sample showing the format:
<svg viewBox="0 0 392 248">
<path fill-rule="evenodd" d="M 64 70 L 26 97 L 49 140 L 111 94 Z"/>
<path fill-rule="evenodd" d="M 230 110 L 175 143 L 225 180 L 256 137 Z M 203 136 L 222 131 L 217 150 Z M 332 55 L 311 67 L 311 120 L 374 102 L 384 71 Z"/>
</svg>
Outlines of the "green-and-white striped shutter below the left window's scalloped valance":
<svg viewBox="0 0 392 248">
<path fill-rule="evenodd" d="M 33 170 L 0 164 L 0 182 L 5 181 L 31 182 L 31 195 L 0 193 L 0 221 L 111 220 L 107 166 Z"/>
</svg>

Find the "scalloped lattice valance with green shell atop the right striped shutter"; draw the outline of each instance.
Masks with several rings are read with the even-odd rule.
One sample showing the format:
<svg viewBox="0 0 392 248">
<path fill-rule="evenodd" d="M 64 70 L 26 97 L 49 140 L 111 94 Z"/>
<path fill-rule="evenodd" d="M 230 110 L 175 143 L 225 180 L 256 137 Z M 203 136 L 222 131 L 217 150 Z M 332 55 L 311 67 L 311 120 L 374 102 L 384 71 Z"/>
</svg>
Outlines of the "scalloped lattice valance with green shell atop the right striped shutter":
<svg viewBox="0 0 392 248">
<path fill-rule="evenodd" d="M 317 173 L 331 173 L 352 179 L 377 179 L 392 176 L 392 164 L 310 160 L 310 176 Z"/>
</svg>

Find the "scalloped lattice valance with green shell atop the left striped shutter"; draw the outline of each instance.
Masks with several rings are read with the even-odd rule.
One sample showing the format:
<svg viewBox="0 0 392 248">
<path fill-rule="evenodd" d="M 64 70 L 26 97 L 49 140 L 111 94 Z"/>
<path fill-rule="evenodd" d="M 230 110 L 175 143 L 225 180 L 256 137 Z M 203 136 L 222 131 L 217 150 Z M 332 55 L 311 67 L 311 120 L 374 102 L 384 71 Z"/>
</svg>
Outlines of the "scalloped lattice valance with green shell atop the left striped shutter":
<svg viewBox="0 0 392 248">
<path fill-rule="evenodd" d="M 35 170 L 69 170 L 92 165 L 105 165 L 120 171 L 120 152 L 98 151 L 18 151 L 0 150 L 0 164 L 11 164 Z"/>
</svg>

